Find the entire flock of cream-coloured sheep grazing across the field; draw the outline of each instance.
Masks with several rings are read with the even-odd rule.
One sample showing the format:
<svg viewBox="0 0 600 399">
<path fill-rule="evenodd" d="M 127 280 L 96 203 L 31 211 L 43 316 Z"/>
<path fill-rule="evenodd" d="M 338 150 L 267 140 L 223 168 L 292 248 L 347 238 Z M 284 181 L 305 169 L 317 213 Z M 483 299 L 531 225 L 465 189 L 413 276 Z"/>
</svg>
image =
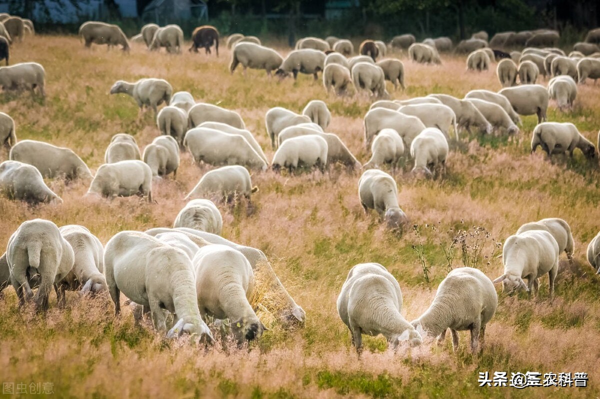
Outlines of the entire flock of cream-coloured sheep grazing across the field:
<svg viewBox="0 0 600 399">
<path fill-rule="evenodd" d="M 80 36 L 86 47 L 94 43 L 130 50 L 116 25 L 86 22 Z M 192 38 L 190 51 L 205 48 L 210 53 L 215 46 L 218 56 L 216 29 L 201 26 Z M 169 53 L 180 53 L 183 34 L 176 25 L 160 28 L 150 24 L 133 40 L 143 41 L 149 50 L 165 47 Z M 572 155 L 579 148 L 593 158 L 596 147 L 572 123 L 543 121 L 551 98 L 561 109 L 571 107 L 577 83 L 600 77 L 600 29 L 590 31 L 587 43 L 577 44 L 577 50 L 568 56 L 556 49 L 556 41 L 554 31 L 503 32 L 490 40 L 489 47 L 485 32 L 462 41 L 455 52 L 469 53 L 467 69 L 481 71 L 490 67 L 492 59 L 499 61 L 497 76 L 504 88 L 497 93 L 472 90 L 463 99 L 440 93 L 404 101 L 379 99 L 364 117 L 365 146 L 371 150 L 371 158 L 362 166 L 337 135 L 326 132 L 331 113 L 325 102 L 310 101 L 302 113 L 271 108 L 265 115 L 266 133 L 276 150 L 270 167 L 275 171 L 287 168 L 290 173 L 300 167 L 317 167 L 324 173 L 337 162 L 350 169 L 362 168 L 358 196 L 365 211 L 376 210 L 386 227 L 401 231 L 409 219 L 398 204 L 397 183 L 379 168 L 385 164 L 398 168 L 400 161 L 409 160 L 414 174 L 443 178 L 449 142 L 459 140 L 460 129 L 514 135 L 519 131 L 520 116 L 536 114 L 539 124 L 532 134 L 532 152 L 541 146 L 548 156 Z M 504 51 L 525 45 L 537 47 Z M 262 46 L 256 37 L 231 35 L 227 47 L 232 49 L 232 73 L 239 64 L 244 73 L 247 68 L 265 69 L 269 76 L 274 71 L 281 78 L 304 73 L 317 79 L 322 72 L 325 88 L 333 87 L 337 95 L 346 95 L 353 86 L 357 92 L 368 90 L 376 98 L 386 98 L 385 80 L 404 88 L 404 68 L 398 59 L 377 58 L 388 50 L 404 49 L 415 62 L 439 64 L 439 52 L 451 50 L 452 42 L 437 38 L 415 43 L 412 35 L 402 35 L 395 37 L 388 49 L 381 41 L 366 40 L 359 48 L 360 55 L 350 59 L 347 57 L 354 54 L 352 42 L 334 37 L 303 38 L 286 58 Z M 535 84 L 540 74 L 553 76 L 548 87 Z M 36 63 L 0 68 L 4 90 L 38 88 L 44 95 L 44 79 L 44 69 Z M 149 312 L 154 327 L 168 337 L 189 333 L 212 342 L 206 322 L 228 319 L 227 326 L 241 344 L 260 338 L 266 329 L 249 298 L 256 289 L 254 275 L 267 273 L 274 281 L 268 289 L 280 297 L 278 306 L 268 310 L 284 324 L 304 322 L 304 310 L 287 294 L 265 254 L 220 237 L 223 218 L 214 202 L 207 199 L 217 193 L 221 198 L 237 195 L 250 200 L 257 188 L 248 170 L 261 173 L 269 167 L 268 158 L 242 117 L 217 105 L 196 102 L 189 92 L 173 93 L 163 79 L 119 80 L 110 93 L 124 93 L 140 110 L 148 107 L 154 111 L 160 135 L 143 153 L 133 136 L 116 134 L 106 149 L 105 164 L 93 175 L 70 149 L 34 140 L 17 142 L 13 119 L 0 114 L 0 141 L 10 148 L 10 160 L 0 164 L 0 190 L 9 198 L 32 204 L 62 202 L 43 179 L 64 177 L 91 181 L 88 195 L 142 195 L 151 201 L 154 179 L 171 173 L 175 178 L 182 151 L 190 152 L 197 163 L 218 168 L 206 173 L 185 197 L 189 201 L 176 216 L 173 228 L 122 231 L 103 246 L 83 226 L 59 228 L 41 219 L 24 222 L 11 235 L 0 258 L 0 288 L 13 285 L 19 304 L 33 300 L 38 310 L 47 309 L 52 286 L 59 304 L 64 304 L 66 289 L 107 290 L 117 314 L 122 292 L 134 308 L 136 322 Z M 166 106 L 158 111 L 163 103 Z M 492 282 L 474 268 L 451 271 L 440 283 L 430 308 L 412 322 L 401 315 L 400 286 L 386 268 L 358 264 L 341 289 L 338 313 L 359 352 L 362 334 L 383 334 L 397 347 L 401 341 L 421 344 L 425 335 L 441 340 L 449 328 L 454 347 L 458 346 L 457 331 L 469 330 L 475 353 L 497 307 L 494 283 L 502 282 L 509 292 L 523 289 L 531 296 L 538 289 L 539 277 L 548 274 L 552 297 L 562 252 L 572 261 L 574 244 L 568 223 L 557 218 L 526 223 L 504 243 L 502 276 Z M 587 251 L 590 264 L 600 273 L 599 257 L 600 233 Z M 32 289 L 36 287 L 34 295 Z"/>
</svg>

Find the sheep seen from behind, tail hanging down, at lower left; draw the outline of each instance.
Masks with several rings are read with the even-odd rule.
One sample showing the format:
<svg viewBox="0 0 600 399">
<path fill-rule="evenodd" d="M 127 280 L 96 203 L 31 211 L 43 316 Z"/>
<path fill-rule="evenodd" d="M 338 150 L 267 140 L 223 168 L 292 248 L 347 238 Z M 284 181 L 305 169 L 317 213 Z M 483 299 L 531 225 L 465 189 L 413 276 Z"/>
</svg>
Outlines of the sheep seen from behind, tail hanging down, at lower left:
<svg viewBox="0 0 600 399">
<path fill-rule="evenodd" d="M 71 244 L 62 238 L 58 227 L 50 220 L 33 219 L 23 222 L 8 239 L 7 262 L 10 280 L 19 297 L 19 306 L 33 300 L 38 312 L 48 309 L 52 285 L 67 276 L 73 268 L 74 253 Z M 39 288 L 34 294 L 29 276 L 40 274 Z M 64 295 L 64 293 L 62 293 Z M 56 291 L 62 303 L 61 292 Z"/>
</svg>

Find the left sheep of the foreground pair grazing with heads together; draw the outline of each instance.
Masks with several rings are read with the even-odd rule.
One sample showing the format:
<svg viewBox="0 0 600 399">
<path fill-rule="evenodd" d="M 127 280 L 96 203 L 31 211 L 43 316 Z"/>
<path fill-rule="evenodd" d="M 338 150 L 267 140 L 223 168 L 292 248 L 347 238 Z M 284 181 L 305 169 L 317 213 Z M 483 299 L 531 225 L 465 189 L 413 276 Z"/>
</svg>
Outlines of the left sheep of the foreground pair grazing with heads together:
<svg viewBox="0 0 600 399">
<path fill-rule="evenodd" d="M 400 341 L 413 346 L 423 340 L 401 315 L 398 282 L 380 264 L 358 264 L 350 270 L 337 300 L 338 314 L 352 334 L 352 345 L 362 352 L 362 334 L 382 334 L 396 349 Z"/>
</svg>

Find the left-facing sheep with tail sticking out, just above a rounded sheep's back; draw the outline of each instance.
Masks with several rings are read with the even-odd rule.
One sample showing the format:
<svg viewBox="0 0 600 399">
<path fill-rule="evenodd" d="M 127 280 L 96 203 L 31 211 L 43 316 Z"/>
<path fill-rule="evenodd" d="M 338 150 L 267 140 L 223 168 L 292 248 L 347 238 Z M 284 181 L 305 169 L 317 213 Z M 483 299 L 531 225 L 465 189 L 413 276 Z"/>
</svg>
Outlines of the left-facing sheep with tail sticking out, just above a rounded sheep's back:
<svg viewBox="0 0 600 399">
<path fill-rule="evenodd" d="M 226 198 L 228 202 L 235 195 L 243 195 L 250 200 L 250 194 L 257 191 L 256 186 L 252 187 L 248 170 L 239 165 L 232 165 L 207 172 L 190 194 L 185 196 L 185 200 L 206 198 L 207 195 L 215 193 L 219 198 Z"/>
</svg>

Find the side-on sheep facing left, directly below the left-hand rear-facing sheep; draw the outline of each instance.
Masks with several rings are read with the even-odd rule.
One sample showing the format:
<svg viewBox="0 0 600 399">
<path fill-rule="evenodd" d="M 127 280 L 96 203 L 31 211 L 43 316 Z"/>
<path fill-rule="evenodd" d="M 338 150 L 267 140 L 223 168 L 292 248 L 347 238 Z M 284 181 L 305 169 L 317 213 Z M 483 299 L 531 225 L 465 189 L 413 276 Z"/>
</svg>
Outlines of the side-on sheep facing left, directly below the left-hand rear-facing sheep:
<svg viewBox="0 0 600 399">
<path fill-rule="evenodd" d="M 152 170 L 137 160 L 101 165 L 89 186 L 88 195 L 100 195 L 111 200 L 142 195 L 152 202 Z"/>
</svg>

